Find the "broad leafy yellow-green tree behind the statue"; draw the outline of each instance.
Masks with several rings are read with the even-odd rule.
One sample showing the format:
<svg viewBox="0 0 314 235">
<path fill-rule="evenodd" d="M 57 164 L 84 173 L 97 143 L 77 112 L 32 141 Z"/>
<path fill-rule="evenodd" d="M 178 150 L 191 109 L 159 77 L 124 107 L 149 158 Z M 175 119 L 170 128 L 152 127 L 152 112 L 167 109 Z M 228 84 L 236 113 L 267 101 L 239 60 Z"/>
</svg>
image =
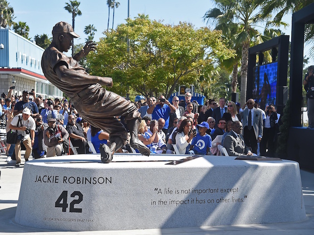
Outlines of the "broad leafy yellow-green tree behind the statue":
<svg viewBox="0 0 314 235">
<path fill-rule="evenodd" d="M 135 94 L 169 98 L 177 85 L 195 84 L 201 75 L 212 78 L 217 64 L 232 56 L 220 31 L 187 23 L 163 25 L 139 15 L 106 32 L 88 61 L 92 74 L 113 78 L 112 90 L 118 94 L 130 86 Z"/>
</svg>

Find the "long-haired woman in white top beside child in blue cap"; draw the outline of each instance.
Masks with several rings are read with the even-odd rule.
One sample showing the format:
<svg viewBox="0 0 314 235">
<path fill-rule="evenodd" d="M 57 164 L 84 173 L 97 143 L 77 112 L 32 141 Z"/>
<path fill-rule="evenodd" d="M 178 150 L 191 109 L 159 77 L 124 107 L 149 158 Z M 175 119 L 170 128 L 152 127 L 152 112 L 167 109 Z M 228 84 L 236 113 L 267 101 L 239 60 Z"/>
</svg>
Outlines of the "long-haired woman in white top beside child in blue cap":
<svg viewBox="0 0 314 235">
<path fill-rule="evenodd" d="M 186 148 L 191 143 L 193 137 L 196 136 L 196 132 L 191 132 L 192 123 L 188 119 L 184 119 L 180 125 L 178 133 L 176 135 L 176 145 L 180 154 L 185 154 Z"/>
</svg>

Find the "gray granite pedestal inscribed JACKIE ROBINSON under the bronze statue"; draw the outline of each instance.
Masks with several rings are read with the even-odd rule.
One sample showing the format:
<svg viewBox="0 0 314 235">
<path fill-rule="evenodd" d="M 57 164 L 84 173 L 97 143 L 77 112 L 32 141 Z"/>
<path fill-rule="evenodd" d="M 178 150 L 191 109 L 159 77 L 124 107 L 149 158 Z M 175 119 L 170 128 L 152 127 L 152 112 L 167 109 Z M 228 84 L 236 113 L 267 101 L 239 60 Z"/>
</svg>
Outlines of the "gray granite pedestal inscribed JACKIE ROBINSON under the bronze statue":
<svg viewBox="0 0 314 235">
<path fill-rule="evenodd" d="M 297 162 L 186 157 L 117 154 L 109 164 L 99 155 L 28 161 L 15 221 L 57 231 L 96 231 L 306 218 Z"/>
</svg>

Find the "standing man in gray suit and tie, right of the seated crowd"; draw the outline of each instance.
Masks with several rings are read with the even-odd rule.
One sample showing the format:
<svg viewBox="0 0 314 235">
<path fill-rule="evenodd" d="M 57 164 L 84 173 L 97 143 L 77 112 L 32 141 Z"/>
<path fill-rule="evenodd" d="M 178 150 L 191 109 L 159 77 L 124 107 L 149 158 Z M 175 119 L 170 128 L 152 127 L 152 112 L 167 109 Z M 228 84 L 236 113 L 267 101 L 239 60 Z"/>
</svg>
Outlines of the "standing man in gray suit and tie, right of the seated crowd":
<svg viewBox="0 0 314 235">
<path fill-rule="evenodd" d="M 244 142 L 257 154 L 257 143 L 261 142 L 263 136 L 262 110 L 254 107 L 253 99 L 249 99 L 246 104 L 247 107 L 241 113 Z"/>
</svg>

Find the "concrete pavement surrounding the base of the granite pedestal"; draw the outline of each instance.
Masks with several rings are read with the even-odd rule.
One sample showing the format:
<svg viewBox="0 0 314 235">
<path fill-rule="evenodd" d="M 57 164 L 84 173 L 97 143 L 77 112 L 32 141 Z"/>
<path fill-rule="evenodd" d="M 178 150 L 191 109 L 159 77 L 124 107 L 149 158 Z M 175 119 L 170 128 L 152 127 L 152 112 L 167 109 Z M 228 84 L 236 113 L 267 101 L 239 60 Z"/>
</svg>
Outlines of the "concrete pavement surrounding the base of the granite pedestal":
<svg viewBox="0 0 314 235">
<path fill-rule="evenodd" d="M 0 155 L 0 235 L 313 235 L 314 234 L 314 173 L 301 170 L 302 189 L 307 218 L 294 223 L 211 226 L 197 228 L 148 229 L 128 231 L 60 232 L 29 228 L 16 224 L 15 211 L 19 198 L 24 158 L 20 167 L 8 165 Z M 31 159 L 31 158 L 30 158 Z M 31 200 L 31 198 L 29 198 Z M 44 199 L 43 199 L 44 200 Z"/>
</svg>

